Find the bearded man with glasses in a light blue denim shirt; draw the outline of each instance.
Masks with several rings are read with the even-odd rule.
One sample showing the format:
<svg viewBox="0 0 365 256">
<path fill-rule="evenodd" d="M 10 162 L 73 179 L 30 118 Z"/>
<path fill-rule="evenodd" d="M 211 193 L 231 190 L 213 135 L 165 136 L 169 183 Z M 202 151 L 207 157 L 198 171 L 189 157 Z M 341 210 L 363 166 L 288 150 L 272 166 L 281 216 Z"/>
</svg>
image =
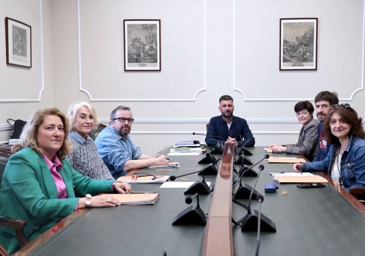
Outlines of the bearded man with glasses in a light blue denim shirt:
<svg viewBox="0 0 365 256">
<path fill-rule="evenodd" d="M 119 106 L 110 114 L 109 126 L 95 139 L 101 159 L 115 179 L 133 169 L 169 163 L 166 156 L 153 157 L 143 154 L 133 144 L 129 136 L 133 121 L 130 108 Z"/>
</svg>

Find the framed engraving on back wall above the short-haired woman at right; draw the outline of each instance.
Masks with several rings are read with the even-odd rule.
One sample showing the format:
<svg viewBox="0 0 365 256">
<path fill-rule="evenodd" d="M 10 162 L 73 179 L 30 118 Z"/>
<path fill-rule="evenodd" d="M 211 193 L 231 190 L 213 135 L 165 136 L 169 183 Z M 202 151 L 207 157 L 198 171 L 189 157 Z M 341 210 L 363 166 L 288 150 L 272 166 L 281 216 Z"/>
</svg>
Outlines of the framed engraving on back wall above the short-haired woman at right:
<svg viewBox="0 0 365 256">
<path fill-rule="evenodd" d="M 318 18 L 280 19 L 280 70 L 317 70 Z"/>
</svg>

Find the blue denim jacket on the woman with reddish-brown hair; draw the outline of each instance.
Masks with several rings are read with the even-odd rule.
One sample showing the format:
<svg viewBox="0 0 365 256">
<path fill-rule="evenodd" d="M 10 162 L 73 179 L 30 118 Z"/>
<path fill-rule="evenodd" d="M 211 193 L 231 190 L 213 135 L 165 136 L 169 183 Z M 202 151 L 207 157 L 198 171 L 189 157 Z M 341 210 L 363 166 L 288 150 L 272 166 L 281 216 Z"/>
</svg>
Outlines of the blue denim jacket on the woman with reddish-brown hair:
<svg viewBox="0 0 365 256">
<path fill-rule="evenodd" d="M 323 161 L 303 163 L 303 171 L 324 171 L 331 176 L 332 166 L 335 164 L 338 145 L 331 145 L 328 155 Z M 365 187 L 365 140 L 351 136 L 349 143 L 341 157 L 341 179 L 344 188 Z"/>
</svg>

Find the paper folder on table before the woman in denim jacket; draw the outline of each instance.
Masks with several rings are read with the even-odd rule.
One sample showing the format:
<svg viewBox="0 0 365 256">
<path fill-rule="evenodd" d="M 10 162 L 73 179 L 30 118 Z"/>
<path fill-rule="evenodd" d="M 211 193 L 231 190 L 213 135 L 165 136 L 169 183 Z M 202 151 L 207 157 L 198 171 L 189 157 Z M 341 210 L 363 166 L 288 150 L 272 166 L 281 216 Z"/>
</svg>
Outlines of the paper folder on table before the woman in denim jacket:
<svg viewBox="0 0 365 256">
<path fill-rule="evenodd" d="M 328 183 L 324 177 L 310 172 L 271 172 L 270 174 L 278 183 Z"/>
</svg>

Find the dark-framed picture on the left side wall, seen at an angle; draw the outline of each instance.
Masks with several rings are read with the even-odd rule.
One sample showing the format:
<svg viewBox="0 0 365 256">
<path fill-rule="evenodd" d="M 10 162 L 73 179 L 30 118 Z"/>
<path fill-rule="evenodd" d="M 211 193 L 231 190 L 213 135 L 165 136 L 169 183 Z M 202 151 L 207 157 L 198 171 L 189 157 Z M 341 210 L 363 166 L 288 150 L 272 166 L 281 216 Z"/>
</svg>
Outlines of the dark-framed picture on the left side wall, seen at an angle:
<svg viewBox="0 0 365 256">
<path fill-rule="evenodd" d="M 32 27 L 5 17 L 6 64 L 32 67 Z"/>
</svg>

